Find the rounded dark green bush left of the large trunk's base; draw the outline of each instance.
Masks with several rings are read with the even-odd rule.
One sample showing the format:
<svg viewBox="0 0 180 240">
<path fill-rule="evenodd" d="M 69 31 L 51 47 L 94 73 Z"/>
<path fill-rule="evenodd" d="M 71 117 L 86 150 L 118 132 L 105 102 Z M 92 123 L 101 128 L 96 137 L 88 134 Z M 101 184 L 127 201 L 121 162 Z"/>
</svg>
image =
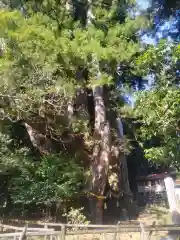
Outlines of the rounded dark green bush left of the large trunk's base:
<svg viewBox="0 0 180 240">
<path fill-rule="evenodd" d="M 9 184 L 14 203 L 45 204 L 74 198 L 82 187 L 82 169 L 68 155 L 50 155 L 39 162 L 26 160 Z"/>
</svg>

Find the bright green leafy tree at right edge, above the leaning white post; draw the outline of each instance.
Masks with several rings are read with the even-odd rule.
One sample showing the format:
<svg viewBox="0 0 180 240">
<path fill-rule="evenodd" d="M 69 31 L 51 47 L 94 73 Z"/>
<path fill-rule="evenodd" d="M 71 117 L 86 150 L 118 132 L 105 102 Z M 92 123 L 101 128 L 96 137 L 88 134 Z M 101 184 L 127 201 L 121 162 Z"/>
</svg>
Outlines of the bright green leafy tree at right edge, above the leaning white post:
<svg viewBox="0 0 180 240">
<path fill-rule="evenodd" d="M 179 161 L 179 46 L 160 43 L 138 63 L 155 73 L 151 89 L 138 94 L 135 114 L 141 119 L 140 139 L 148 159 L 178 167 Z M 168 64 L 168 65 L 167 65 Z M 147 72 L 146 72 L 147 73 Z M 149 144 L 148 144 L 149 142 Z"/>
</svg>

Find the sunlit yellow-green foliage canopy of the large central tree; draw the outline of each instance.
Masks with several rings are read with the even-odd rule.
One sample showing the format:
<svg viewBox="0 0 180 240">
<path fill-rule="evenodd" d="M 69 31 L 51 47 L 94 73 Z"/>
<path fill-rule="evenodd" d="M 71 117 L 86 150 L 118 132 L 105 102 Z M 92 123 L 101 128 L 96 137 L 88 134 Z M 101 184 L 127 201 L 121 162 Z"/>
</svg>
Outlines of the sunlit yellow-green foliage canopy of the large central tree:
<svg viewBox="0 0 180 240">
<path fill-rule="evenodd" d="M 121 4 L 122 12 L 118 10 L 124 16 L 119 22 L 113 15 L 119 4 L 110 4 L 112 14 L 108 14 L 109 9 L 100 1 L 92 8 L 94 14 L 97 11 L 96 18 L 84 28 L 74 21 L 75 10 L 67 10 L 63 1 L 40 2 L 36 7 L 34 1 L 25 4 L 29 11 L 26 16 L 19 11 L 0 12 L 0 33 L 5 43 L 0 59 L 1 118 L 44 121 L 51 136 L 60 138 L 63 129 L 69 127 L 67 104 L 75 97 L 75 90 L 86 85 L 116 84 L 117 66 L 129 65 L 140 52 L 135 33 L 148 22 L 143 17 L 128 16 L 129 2 Z M 98 25 L 102 20 L 99 11 L 103 11 L 106 23 L 111 23 L 106 30 Z M 72 18 L 67 21 L 67 16 Z M 98 80 L 93 54 L 101 71 Z M 79 81 L 77 72 L 86 68 L 88 81 L 83 76 Z M 75 125 L 83 126 L 83 121 L 78 121 Z M 73 130 L 77 132 L 77 127 Z"/>
</svg>

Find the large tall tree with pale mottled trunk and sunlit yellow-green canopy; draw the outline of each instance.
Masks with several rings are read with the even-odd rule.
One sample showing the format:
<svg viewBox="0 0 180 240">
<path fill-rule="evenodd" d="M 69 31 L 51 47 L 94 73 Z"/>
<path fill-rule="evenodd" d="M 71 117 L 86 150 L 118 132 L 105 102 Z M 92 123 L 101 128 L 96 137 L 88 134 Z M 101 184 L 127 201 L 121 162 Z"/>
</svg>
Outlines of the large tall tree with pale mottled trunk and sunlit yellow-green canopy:
<svg viewBox="0 0 180 240">
<path fill-rule="evenodd" d="M 148 26 L 144 17 L 132 16 L 133 6 L 42 0 L 0 15 L 2 125 L 21 125 L 36 158 L 68 151 L 84 160 L 97 221 L 107 185 L 130 198 L 119 78 L 133 76 L 141 54 L 137 32 Z"/>
</svg>

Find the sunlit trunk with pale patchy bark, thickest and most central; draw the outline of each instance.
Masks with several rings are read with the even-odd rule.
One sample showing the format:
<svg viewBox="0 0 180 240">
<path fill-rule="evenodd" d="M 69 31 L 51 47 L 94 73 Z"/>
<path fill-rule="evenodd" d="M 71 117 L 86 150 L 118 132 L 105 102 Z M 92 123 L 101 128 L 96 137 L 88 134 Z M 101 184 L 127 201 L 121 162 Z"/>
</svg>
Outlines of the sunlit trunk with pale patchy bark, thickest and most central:
<svg viewBox="0 0 180 240">
<path fill-rule="evenodd" d="M 103 218 L 103 195 L 107 184 L 110 160 L 110 128 L 106 120 L 106 111 L 103 99 L 103 87 L 98 86 L 93 91 L 95 105 L 94 149 L 92 156 L 92 200 L 96 223 Z"/>
</svg>

